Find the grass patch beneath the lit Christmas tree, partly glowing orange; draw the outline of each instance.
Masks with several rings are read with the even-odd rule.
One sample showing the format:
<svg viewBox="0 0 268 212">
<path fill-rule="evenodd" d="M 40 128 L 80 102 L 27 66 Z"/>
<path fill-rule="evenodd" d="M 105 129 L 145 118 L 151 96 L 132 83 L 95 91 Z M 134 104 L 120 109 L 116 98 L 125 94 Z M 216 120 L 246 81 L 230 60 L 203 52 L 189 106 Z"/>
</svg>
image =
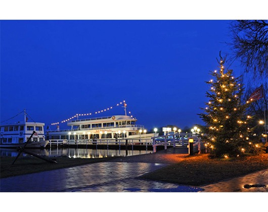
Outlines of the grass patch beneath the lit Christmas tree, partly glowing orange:
<svg viewBox="0 0 268 212">
<path fill-rule="evenodd" d="M 201 186 L 268 169 L 268 154 L 233 159 L 210 159 L 207 154 L 187 156 L 180 163 L 148 173 L 143 178 Z"/>
</svg>

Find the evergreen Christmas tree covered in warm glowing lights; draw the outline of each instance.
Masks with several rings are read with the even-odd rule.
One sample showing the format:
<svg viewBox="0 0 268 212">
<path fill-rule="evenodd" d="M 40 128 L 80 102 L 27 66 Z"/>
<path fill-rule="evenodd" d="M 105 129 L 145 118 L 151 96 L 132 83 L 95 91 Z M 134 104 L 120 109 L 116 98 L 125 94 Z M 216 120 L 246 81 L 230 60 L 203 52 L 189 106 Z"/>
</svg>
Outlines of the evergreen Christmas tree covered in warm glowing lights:
<svg viewBox="0 0 268 212">
<path fill-rule="evenodd" d="M 220 56 L 219 70 L 211 72 L 213 79 L 206 82 L 211 87 L 206 92 L 209 101 L 204 113 L 198 114 L 206 123 L 202 139 L 211 157 L 256 153 L 259 144 L 249 127 L 252 117 L 246 114 L 249 104 L 241 101 L 243 85 L 233 70 L 225 69 L 225 60 Z"/>
</svg>

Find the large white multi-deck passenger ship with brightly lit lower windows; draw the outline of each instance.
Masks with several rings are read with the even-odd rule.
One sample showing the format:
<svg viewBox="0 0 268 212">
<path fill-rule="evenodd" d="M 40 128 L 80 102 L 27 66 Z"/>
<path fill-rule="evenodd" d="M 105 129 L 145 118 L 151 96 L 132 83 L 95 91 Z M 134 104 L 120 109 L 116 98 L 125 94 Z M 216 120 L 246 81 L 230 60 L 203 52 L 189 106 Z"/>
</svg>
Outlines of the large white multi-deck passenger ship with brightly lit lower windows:
<svg viewBox="0 0 268 212">
<path fill-rule="evenodd" d="M 96 139 L 151 139 L 155 134 L 146 134 L 143 125 L 136 125 L 137 119 L 116 115 L 88 119 L 70 120 L 69 130 L 47 131 L 49 140 L 96 140 Z"/>
</svg>

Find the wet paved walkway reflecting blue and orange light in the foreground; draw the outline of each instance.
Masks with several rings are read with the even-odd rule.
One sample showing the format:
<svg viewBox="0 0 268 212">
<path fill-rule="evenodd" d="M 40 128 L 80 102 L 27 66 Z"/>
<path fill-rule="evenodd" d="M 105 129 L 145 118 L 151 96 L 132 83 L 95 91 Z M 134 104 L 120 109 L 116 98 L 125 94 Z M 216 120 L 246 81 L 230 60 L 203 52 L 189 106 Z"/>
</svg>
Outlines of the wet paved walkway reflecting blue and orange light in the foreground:
<svg viewBox="0 0 268 212">
<path fill-rule="evenodd" d="M 178 154 L 180 153 L 180 154 Z M 162 157 L 163 155 L 163 157 Z M 165 155 L 165 156 L 164 156 Z M 167 156 L 168 155 L 168 156 Z M 187 150 L 170 148 L 109 162 L 46 171 L 0 181 L 1 192 L 267 192 L 268 170 L 203 187 L 140 179 L 139 176 L 180 162 Z M 156 161 L 157 158 L 157 161 Z M 157 162 L 157 163 L 156 163 Z M 267 187 L 244 188 L 249 184 Z"/>
</svg>

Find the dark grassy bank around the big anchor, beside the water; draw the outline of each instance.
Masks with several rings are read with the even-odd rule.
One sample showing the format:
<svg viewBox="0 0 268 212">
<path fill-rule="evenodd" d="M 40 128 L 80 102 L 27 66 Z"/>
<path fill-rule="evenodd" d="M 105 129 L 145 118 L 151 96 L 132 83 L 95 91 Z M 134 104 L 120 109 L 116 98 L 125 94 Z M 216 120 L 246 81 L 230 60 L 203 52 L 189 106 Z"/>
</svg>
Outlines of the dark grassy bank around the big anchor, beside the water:
<svg viewBox="0 0 268 212">
<path fill-rule="evenodd" d="M 55 157 L 57 164 L 48 163 L 36 157 L 19 157 L 18 160 L 12 165 L 15 157 L 1 157 L 0 177 L 12 177 L 17 175 L 31 174 L 42 171 L 49 171 L 55 169 L 62 169 L 74 166 L 80 166 L 91 163 L 100 163 L 111 160 L 114 157 L 103 158 L 69 158 L 69 157 Z"/>
</svg>

